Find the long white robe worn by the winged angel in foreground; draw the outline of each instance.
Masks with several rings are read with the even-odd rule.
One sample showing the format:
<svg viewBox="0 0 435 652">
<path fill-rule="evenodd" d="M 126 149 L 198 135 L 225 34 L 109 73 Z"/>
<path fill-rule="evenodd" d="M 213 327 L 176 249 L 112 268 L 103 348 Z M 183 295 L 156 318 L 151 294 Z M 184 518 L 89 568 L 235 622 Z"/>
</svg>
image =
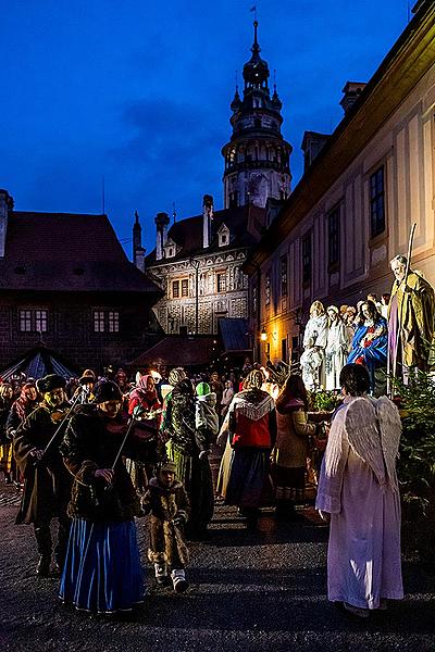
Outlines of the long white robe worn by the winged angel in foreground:
<svg viewBox="0 0 435 652">
<path fill-rule="evenodd" d="M 331 514 L 328 599 L 372 610 L 403 598 L 400 497 L 350 447 L 346 409 L 331 427 L 315 506 Z"/>
</svg>

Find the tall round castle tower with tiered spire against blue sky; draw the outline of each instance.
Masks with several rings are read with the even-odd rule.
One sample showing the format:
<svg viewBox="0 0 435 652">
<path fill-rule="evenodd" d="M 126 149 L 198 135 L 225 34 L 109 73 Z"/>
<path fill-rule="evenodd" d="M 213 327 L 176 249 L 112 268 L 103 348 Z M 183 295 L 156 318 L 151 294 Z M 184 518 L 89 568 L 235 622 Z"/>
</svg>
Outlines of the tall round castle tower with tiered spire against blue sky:
<svg viewBox="0 0 435 652">
<path fill-rule="evenodd" d="M 247 203 L 264 208 L 268 198 L 286 199 L 290 193 L 291 146 L 281 134 L 283 106 L 276 92 L 271 97 L 269 66 L 260 57 L 253 23 L 252 57 L 244 66 L 244 98 L 236 87 L 229 120 L 233 134 L 222 149 L 225 159 L 225 209 Z"/>
</svg>

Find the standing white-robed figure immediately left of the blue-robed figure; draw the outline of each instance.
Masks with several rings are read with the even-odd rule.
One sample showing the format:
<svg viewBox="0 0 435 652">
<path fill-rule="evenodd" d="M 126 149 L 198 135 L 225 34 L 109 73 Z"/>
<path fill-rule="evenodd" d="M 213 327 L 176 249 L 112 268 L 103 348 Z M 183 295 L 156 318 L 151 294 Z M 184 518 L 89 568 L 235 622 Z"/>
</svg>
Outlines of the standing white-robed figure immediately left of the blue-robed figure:
<svg viewBox="0 0 435 652">
<path fill-rule="evenodd" d="M 339 389 L 339 375 L 348 356 L 348 339 L 346 325 L 341 321 L 338 308 L 330 305 L 326 311 L 328 329 L 325 348 L 326 389 Z"/>
</svg>

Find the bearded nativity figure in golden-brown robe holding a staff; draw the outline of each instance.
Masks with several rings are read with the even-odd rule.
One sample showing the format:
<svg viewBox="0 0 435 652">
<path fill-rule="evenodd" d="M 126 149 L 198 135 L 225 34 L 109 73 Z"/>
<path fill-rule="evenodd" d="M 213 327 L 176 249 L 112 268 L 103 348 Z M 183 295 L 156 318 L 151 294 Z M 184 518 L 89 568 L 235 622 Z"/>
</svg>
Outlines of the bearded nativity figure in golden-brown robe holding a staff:
<svg viewBox="0 0 435 652">
<path fill-rule="evenodd" d="M 389 368 L 408 377 L 412 366 L 427 371 L 435 366 L 435 293 L 420 274 L 407 269 L 407 259 L 390 262 L 395 281 L 388 305 Z"/>
</svg>

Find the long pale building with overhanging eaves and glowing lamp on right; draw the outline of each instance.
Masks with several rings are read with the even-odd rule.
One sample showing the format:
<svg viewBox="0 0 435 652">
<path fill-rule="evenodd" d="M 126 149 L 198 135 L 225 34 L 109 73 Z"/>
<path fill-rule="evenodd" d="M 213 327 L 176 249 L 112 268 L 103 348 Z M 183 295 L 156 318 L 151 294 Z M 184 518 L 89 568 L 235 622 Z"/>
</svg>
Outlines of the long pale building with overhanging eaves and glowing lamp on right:
<svg viewBox="0 0 435 652">
<path fill-rule="evenodd" d="M 356 304 L 389 292 L 389 261 L 407 254 L 413 222 L 412 266 L 435 285 L 434 35 L 435 5 L 422 0 L 369 84 L 346 85 L 343 121 L 330 137 L 314 135 L 321 147 L 251 253 L 262 360 L 298 347 L 313 300 Z"/>
</svg>

